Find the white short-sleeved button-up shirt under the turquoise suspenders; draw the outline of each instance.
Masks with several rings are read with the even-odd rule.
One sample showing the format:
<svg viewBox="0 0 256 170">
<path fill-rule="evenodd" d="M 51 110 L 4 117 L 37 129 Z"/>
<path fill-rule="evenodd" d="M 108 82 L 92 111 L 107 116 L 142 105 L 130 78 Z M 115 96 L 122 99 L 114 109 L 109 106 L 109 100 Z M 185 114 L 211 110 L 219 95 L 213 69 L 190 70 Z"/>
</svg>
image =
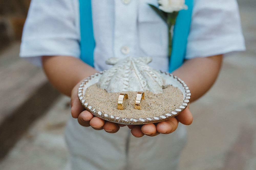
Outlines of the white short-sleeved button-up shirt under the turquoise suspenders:
<svg viewBox="0 0 256 170">
<path fill-rule="evenodd" d="M 156 0 L 93 0 L 94 66 L 108 69 L 109 57 L 151 56 L 168 71 L 167 25 L 147 3 Z M 78 0 L 32 0 L 24 26 L 21 57 L 40 65 L 43 55 L 80 57 Z M 194 0 L 186 59 L 245 49 L 234 0 Z"/>
</svg>

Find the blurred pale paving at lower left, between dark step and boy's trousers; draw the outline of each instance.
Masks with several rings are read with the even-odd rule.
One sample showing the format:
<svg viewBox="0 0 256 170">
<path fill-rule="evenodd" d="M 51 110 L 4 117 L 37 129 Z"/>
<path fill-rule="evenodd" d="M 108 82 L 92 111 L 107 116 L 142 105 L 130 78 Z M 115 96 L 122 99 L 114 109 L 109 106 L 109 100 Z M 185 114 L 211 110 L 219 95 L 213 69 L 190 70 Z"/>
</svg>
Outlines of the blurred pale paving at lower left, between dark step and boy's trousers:
<svg viewBox="0 0 256 170">
<path fill-rule="evenodd" d="M 0 163 L 2 170 L 69 170 L 64 140 L 70 100 L 60 96 L 45 116 L 35 121 Z"/>
</svg>

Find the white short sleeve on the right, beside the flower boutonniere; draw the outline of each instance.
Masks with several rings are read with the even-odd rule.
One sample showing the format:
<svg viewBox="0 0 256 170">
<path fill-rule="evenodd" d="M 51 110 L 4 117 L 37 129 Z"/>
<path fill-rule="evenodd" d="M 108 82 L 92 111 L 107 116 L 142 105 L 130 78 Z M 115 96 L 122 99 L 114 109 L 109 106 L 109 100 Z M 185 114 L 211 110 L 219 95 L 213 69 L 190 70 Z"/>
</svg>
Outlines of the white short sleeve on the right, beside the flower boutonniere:
<svg viewBox="0 0 256 170">
<path fill-rule="evenodd" d="M 245 50 L 235 0 L 194 0 L 186 59 Z"/>
</svg>

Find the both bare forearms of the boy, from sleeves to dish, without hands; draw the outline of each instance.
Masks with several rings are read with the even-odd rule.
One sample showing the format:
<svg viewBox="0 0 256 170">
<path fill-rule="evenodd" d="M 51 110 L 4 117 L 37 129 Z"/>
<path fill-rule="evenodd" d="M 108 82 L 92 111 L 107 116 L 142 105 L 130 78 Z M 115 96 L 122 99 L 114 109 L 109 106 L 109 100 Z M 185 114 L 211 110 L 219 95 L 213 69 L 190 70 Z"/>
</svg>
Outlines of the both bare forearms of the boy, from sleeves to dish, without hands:
<svg viewBox="0 0 256 170">
<path fill-rule="evenodd" d="M 205 94 L 215 82 L 222 63 L 222 55 L 187 60 L 173 72 L 186 82 L 191 101 Z M 97 72 L 94 68 L 71 56 L 42 57 L 44 71 L 54 87 L 70 96 L 72 88 L 83 78 Z"/>
</svg>

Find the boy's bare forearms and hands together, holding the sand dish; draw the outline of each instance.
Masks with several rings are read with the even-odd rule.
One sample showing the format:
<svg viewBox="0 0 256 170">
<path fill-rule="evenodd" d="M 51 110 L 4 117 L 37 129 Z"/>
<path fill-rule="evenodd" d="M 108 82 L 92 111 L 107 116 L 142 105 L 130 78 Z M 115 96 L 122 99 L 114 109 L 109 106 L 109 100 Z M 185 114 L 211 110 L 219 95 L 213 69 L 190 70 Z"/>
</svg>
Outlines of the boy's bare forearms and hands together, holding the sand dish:
<svg viewBox="0 0 256 170">
<path fill-rule="evenodd" d="M 222 56 L 207 58 L 194 58 L 186 61 L 180 68 L 173 72 L 174 75 L 183 79 L 189 86 L 192 94 L 191 101 L 202 96 L 214 83 L 220 70 Z M 105 129 L 106 132 L 115 133 L 119 126 L 112 122 L 106 122 L 99 117 L 94 117 L 90 112 L 84 111 L 77 96 L 78 82 L 84 77 L 97 72 L 81 60 L 69 56 L 42 57 L 42 63 L 49 81 L 62 93 L 71 95 L 71 114 L 78 118 L 82 126 L 92 126 L 95 129 Z M 77 85 L 77 86 L 76 86 Z M 76 87 L 74 87 L 76 86 Z M 173 132 L 178 122 L 191 124 L 193 118 L 189 109 L 185 109 L 175 118 L 171 118 L 157 125 L 146 124 L 142 127 L 131 127 L 131 133 L 136 137 L 144 134 L 155 136 L 159 133 L 168 134 Z M 148 127 L 152 126 L 153 127 Z M 139 134 L 139 135 L 138 135 Z"/>
</svg>

